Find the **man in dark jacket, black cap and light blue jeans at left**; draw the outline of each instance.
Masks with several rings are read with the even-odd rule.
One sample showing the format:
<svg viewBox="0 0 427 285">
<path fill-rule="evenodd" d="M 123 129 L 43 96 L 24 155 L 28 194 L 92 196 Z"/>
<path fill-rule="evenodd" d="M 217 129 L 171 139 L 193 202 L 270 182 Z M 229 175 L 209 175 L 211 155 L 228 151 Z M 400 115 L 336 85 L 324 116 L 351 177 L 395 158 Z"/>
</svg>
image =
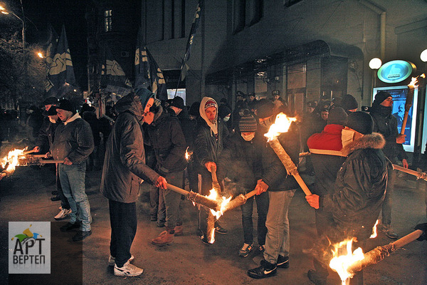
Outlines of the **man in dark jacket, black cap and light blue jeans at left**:
<svg viewBox="0 0 427 285">
<path fill-rule="evenodd" d="M 60 186 L 71 208 L 70 222 L 60 230 L 81 228 L 73 237 L 73 241 L 78 242 L 92 234 L 90 204 L 85 193 L 85 160 L 93 151 L 93 135 L 89 124 L 80 118 L 69 100 L 61 100 L 56 112 L 63 124 L 56 128 L 52 155 L 64 161 L 58 165 Z"/>
</svg>

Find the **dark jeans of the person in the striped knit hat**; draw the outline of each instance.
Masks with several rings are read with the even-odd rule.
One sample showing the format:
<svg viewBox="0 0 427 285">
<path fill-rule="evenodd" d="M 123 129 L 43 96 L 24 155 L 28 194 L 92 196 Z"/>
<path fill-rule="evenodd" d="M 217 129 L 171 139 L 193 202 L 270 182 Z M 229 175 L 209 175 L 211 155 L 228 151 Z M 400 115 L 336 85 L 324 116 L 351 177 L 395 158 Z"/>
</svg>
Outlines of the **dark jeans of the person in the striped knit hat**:
<svg viewBox="0 0 427 285">
<path fill-rule="evenodd" d="M 265 219 L 267 219 L 268 213 L 268 192 L 263 192 L 261 195 L 255 195 L 246 201 L 245 204 L 241 205 L 242 209 L 242 224 L 243 224 L 243 238 L 245 244 L 253 243 L 253 200 L 256 201 L 256 211 L 258 212 L 258 244 L 265 244 L 265 235 L 267 234 L 267 227 L 265 227 Z"/>
</svg>

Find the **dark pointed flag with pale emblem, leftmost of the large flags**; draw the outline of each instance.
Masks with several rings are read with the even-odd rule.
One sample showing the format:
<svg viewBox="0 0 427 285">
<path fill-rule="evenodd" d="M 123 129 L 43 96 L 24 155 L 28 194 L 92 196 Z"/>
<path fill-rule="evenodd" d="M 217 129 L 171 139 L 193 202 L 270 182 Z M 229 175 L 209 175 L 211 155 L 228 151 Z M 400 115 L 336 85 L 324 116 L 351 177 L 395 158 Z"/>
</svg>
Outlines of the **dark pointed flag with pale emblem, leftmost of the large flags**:
<svg viewBox="0 0 427 285">
<path fill-rule="evenodd" d="M 52 63 L 49 66 L 48 83 L 46 92 L 52 96 L 59 97 L 67 86 L 75 85 L 73 62 L 71 61 L 70 49 L 68 48 L 65 26 L 60 33 L 58 46 Z"/>
</svg>

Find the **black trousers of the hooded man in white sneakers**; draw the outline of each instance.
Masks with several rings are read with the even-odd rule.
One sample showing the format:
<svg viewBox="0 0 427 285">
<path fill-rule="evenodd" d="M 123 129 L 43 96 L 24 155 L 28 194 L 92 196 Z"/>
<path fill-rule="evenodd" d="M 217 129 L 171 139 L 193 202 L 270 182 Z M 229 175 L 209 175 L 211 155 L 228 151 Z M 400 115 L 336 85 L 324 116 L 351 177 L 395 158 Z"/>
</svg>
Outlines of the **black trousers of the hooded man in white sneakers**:
<svg viewBox="0 0 427 285">
<path fill-rule="evenodd" d="M 131 257 L 130 247 L 137 233 L 137 206 L 108 200 L 110 205 L 111 242 L 110 254 L 122 267 Z"/>
</svg>

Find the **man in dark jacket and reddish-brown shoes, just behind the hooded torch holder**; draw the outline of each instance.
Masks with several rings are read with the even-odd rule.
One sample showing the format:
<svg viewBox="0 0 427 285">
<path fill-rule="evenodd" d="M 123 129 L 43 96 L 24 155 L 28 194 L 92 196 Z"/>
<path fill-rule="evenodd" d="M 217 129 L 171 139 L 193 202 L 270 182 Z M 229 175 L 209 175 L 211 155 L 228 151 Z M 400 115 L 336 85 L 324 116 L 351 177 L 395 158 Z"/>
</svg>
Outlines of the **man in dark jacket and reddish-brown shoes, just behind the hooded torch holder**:
<svg viewBox="0 0 427 285">
<path fill-rule="evenodd" d="M 184 183 L 186 167 L 186 142 L 178 118 L 163 110 L 159 100 L 144 115 L 147 126 L 147 141 L 156 157 L 155 170 L 167 181 L 178 187 Z M 174 236 L 182 234 L 182 220 L 179 212 L 181 194 L 172 190 L 159 189 L 166 206 L 166 230 L 152 240 L 152 244 L 162 247 L 172 244 Z"/>
</svg>

